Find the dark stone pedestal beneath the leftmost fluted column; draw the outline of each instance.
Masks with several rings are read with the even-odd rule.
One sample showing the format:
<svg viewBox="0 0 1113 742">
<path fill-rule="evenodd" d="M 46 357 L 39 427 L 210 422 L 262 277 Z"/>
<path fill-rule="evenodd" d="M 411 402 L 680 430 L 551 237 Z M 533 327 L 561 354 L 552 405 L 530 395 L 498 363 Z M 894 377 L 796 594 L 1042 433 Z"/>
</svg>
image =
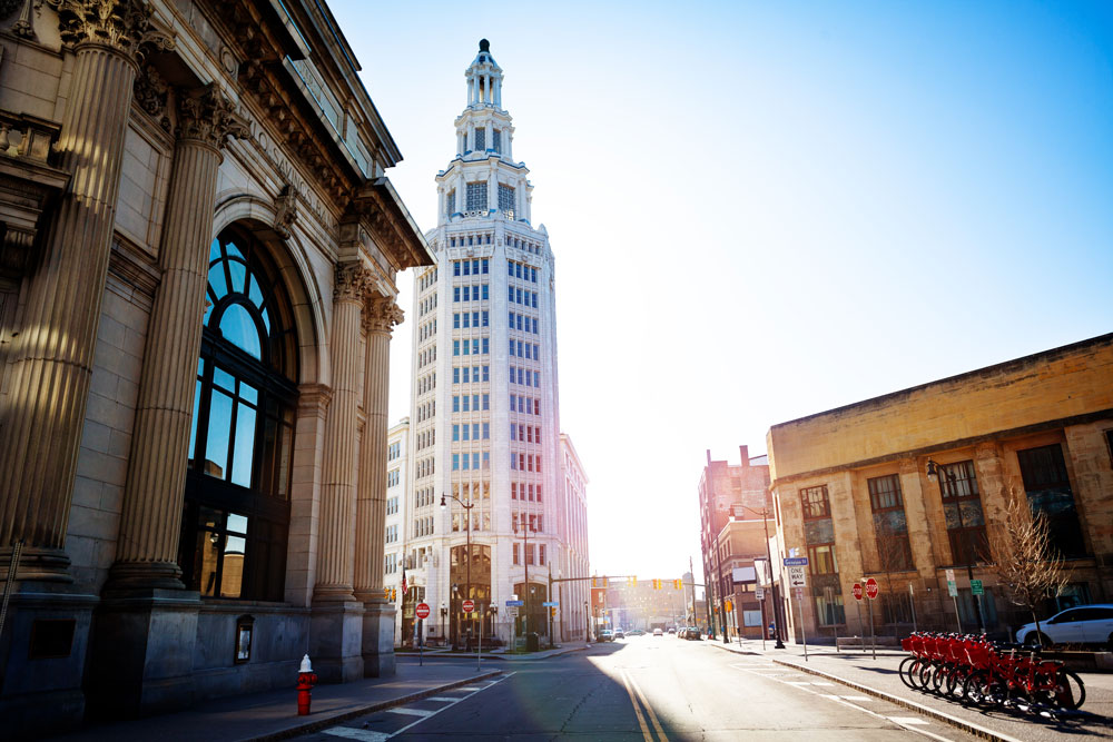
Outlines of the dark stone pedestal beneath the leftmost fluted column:
<svg viewBox="0 0 1113 742">
<path fill-rule="evenodd" d="M 0 634 L 0 738 L 37 739 L 80 726 L 97 602 L 57 582 L 13 585 Z"/>
</svg>

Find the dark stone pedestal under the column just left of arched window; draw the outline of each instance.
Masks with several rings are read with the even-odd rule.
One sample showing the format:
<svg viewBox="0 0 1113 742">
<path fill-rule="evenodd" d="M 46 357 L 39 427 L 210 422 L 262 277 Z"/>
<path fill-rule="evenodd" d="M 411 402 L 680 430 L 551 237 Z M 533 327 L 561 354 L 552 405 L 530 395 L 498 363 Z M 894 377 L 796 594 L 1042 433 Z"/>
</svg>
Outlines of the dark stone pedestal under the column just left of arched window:
<svg viewBox="0 0 1113 742">
<path fill-rule="evenodd" d="M 200 594 L 116 590 L 97 610 L 89 716 L 147 716 L 190 706 Z"/>
</svg>

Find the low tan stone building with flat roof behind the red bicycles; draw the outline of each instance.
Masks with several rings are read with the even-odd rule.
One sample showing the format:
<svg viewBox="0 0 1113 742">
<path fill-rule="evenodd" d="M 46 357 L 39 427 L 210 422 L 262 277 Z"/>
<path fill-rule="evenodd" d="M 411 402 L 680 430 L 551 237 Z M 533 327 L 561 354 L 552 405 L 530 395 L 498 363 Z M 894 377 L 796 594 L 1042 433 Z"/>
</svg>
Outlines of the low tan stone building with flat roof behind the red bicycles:
<svg viewBox="0 0 1113 742">
<path fill-rule="evenodd" d="M 972 578 L 989 631 L 1031 621 L 986 558 L 1011 496 L 1071 571 L 1041 617 L 1113 600 L 1113 335 L 774 425 L 768 445 L 782 548 L 809 560 L 797 637 L 868 631 L 851 587 L 870 576 L 878 633 L 973 631 Z"/>
</svg>

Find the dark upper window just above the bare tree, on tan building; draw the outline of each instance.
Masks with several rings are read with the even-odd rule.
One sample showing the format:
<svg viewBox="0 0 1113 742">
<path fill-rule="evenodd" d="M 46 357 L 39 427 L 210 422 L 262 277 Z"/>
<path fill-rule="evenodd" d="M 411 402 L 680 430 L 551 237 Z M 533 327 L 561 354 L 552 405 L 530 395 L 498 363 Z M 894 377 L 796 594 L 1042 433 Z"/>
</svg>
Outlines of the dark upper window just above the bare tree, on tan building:
<svg viewBox="0 0 1113 742">
<path fill-rule="evenodd" d="M 1074 491 L 1066 473 L 1063 447 L 1057 443 L 1016 452 L 1024 491 L 1033 515 L 1047 518 L 1051 543 L 1065 556 L 1086 553 L 1074 505 Z"/>
</svg>

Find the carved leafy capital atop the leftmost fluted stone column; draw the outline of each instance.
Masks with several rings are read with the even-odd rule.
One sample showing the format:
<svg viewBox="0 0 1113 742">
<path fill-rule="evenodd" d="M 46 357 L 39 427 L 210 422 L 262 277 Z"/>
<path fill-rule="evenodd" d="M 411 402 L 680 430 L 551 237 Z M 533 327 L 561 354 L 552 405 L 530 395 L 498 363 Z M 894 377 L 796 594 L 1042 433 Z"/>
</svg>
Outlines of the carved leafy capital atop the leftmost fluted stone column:
<svg viewBox="0 0 1113 742">
<path fill-rule="evenodd" d="M 151 26 L 146 0 L 47 1 L 58 9 L 58 30 L 68 47 L 99 44 L 132 61 L 142 59 L 146 47 L 174 49 L 174 39 Z"/>
</svg>

